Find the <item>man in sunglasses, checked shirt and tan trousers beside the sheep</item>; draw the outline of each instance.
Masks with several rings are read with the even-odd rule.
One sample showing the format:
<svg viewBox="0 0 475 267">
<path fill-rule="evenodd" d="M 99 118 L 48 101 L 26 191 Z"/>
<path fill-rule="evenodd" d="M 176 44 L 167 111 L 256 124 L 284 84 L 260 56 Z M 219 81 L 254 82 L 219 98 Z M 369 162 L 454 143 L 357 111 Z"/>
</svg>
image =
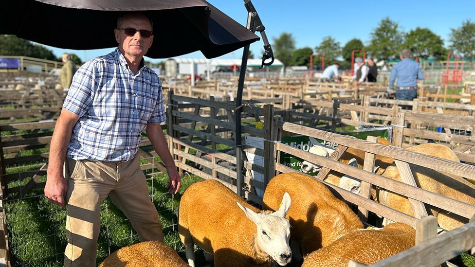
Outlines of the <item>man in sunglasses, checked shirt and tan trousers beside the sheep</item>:
<svg viewBox="0 0 475 267">
<path fill-rule="evenodd" d="M 117 19 L 114 33 L 118 48 L 74 75 L 51 140 L 45 196 L 61 207 L 68 204 L 65 266 L 95 266 L 99 205 L 107 196 L 141 241 L 163 242 L 137 153 L 144 129 L 166 165 L 169 192 L 180 188 L 160 127 L 166 119 L 162 85 L 143 58 L 152 45 L 152 24 L 141 13 L 127 13 Z"/>
</svg>

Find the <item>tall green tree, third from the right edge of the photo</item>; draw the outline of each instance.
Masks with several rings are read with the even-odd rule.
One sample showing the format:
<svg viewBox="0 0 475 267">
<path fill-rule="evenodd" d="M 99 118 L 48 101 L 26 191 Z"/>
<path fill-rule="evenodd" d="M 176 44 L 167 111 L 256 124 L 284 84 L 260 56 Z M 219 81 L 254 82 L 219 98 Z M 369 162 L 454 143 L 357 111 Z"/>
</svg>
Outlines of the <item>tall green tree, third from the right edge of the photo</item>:
<svg viewBox="0 0 475 267">
<path fill-rule="evenodd" d="M 390 18 L 383 18 L 378 27 L 371 33 L 367 46 L 371 57 L 387 60 L 399 57 L 404 43 L 404 33 L 399 30 L 398 23 Z"/>
</svg>

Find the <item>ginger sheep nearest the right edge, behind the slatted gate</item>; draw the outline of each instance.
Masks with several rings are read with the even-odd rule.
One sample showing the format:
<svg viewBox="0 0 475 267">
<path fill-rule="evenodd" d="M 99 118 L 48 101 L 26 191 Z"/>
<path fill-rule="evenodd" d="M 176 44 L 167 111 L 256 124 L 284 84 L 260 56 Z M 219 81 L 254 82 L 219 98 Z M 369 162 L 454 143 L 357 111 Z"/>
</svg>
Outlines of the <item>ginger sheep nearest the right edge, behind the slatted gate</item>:
<svg viewBox="0 0 475 267">
<path fill-rule="evenodd" d="M 436 143 L 424 143 L 407 148 L 409 151 L 418 152 L 446 160 L 459 162 L 457 155 L 447 146 Z M 425 168 L 415 164 L 409 164 L 412 174 L 418 187 L 437 193 L 442 196 L 457 199 L 459 201 L 475 205 L 475 185 L 468 182 L 464 178 L 448 173 L 440 173 L 438 171 Z M 389 166 L 383 173 L 384 177 L 402 181 L 399 171 L 395 165 Z M 356 183 L 355 183 L 356 182 Z M 356 193 L 361 181 L 354 178 L 345 177 L 341 179 L 340 186 L 346 190 Z M 414 216 L 411 204 L 407 197 L 391 193 L 385 190 L 372 190 L 375 199 L 405 214 Z M 448 213 L 435 207 L 431 207 L 428 211 L 430 215 L 437 217 L 438 224 L 445 230 L 453 230 L 468 222 L 468 219 L 458 216 L 457 214 Z"/>
</svg>

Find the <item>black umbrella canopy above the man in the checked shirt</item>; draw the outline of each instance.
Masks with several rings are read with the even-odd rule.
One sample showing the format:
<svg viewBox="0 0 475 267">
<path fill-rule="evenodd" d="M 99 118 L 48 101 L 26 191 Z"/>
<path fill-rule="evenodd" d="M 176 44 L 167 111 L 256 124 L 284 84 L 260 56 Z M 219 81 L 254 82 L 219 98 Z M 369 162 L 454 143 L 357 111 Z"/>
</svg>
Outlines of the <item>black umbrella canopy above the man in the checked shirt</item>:
<svg viewBox="0 0 475 267">
<path fill-rule="evenodd" d="M 201 51 L 207 58 L 235 51 L 259 39 L 204 0 L 6 0 L 0 34 L 13 34 L 65 49 L 117 46 L 113 29 L 127 11 L 153 21 L 153 45 L 146 56 L 166 58 Z M 4 3 L 5 5 L 5 3 Z"/>
</svg>

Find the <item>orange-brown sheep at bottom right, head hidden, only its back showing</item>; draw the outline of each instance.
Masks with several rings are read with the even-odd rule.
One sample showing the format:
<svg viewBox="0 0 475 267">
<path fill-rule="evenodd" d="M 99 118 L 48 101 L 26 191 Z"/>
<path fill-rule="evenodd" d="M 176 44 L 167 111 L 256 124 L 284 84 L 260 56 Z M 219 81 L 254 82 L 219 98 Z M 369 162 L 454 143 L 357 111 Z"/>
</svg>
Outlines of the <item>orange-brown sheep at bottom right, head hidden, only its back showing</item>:
<svg viewBox="0 0 475 267">
<path fill-rule="evenodd" d="M 416 231 L 392 223 L 380 230 L 354 231 L 310 253 L 302 267 L 347 267 L 350 260 L 373 264 L 414 247 Z"/>
</svg>

